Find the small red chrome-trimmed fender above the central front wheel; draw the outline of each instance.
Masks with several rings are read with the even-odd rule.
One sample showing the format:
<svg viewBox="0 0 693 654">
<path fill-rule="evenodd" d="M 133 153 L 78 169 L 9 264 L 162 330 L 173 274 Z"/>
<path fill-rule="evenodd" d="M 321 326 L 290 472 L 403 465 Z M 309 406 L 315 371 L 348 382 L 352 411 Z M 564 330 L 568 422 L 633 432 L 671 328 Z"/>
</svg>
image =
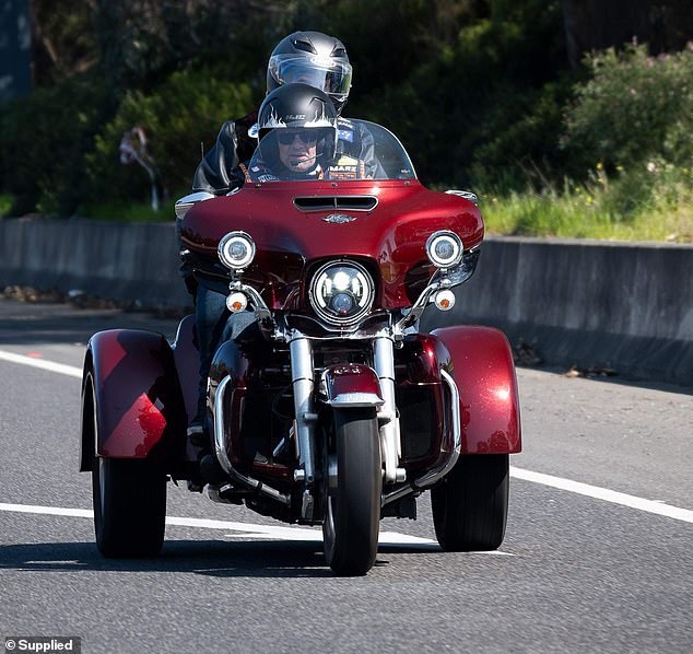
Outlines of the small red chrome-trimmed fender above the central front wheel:
<svg viewBox="0 0 693 654">
<path fill-rule="evenodd" d="M 336 408 L 379 407 L 385 404 L 376 372 L 353 363 L 330 365 L 322 373 L 325 404 Z"/>
</svg>

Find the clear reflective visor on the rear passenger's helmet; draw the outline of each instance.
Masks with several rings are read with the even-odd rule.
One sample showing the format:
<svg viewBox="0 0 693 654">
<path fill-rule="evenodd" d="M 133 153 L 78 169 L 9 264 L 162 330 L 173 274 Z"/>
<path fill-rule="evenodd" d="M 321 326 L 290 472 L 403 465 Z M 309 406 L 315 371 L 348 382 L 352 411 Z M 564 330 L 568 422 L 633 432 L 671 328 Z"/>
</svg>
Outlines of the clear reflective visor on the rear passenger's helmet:
<svg viewBox="0 0 693 654">
<path fill-rule="evenodd" d="M 351 87 L 351 65 L 326 57 L 274 55 L 269 71 L 280 85 L 303 82 L 328 95 L 346 96 Z"/>
</svg>

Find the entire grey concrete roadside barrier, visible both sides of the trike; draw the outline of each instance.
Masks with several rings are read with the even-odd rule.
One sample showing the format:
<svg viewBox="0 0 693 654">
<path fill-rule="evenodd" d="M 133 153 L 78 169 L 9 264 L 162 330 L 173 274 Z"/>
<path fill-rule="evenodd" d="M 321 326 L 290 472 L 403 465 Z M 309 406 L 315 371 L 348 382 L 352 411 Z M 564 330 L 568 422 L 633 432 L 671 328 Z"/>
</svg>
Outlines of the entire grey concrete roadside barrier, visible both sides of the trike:
<svg viewBox="0 0 693 654">
<path fill-rule="evenodd" d="M 187 307 L 173 222 L 0 220 L 0 284 Z M 547 364 L 693 385 L 693 246 L 488 238 L 448 314 L 502 328 Z"/>
</svg>

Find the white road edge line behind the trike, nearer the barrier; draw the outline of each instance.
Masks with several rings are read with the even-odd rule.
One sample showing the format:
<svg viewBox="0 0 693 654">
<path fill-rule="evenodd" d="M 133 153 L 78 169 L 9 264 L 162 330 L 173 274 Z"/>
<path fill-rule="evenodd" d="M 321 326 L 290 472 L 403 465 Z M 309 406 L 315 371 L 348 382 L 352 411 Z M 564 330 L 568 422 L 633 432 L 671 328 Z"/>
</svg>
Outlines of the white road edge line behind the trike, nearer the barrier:
<svg viewBox="0 0 693 654">
<path fill-rule="evenodd" d="M 31 357 L 23 357 L 22 354 L 15 354 L 13 352 L 7 352 L 3 350 L 0 350 L 0 360 L 11 361 L 12 363 L 21 363 L 23 365 L 31 365 L 33 367 L 48 370 L 50 372 L 69 375 L 71 377 L 82 378 L 82 370 L 73 365 L 54 363 L 52 361 L 44 361 L 43 359 L 32 359 Z M 674 519 L 680 519 L 686 523 L 693 523 L 693 511 L 689 511 L 688 509 L 680 509 L 678 506 L 671 506 L 670 504 L 662 503 L 660 500 L 645 500 L 643 498 L 637 498 L 635 495 L 629 495 L 626 493 L 612 491 L 607 488 L 600 488 L 598 486 L 590 486 L 588 483 L 583 483 L 582 481 L 572 481 L 571 479 L 554 477 L 552 475 L 544 475 L 543 472 L 533 472 L 531 470 L 516 468 L 515 466 L 510 466 L 510 475 L 513 477 L 516 477 L 517 479 L 522 479 L 525 481 L 532 481 L 535 483 L 541 483 L 543 486 L 557 488 L 560 490 L 569 491 L 580 495 L 587 495 L 589 498 L 603 500 L 606 502 L 622 504 L 623 506 L 630 506 L 631 509 L 637 509 L 639 511 L 656 513 L 657 515 L 672 517 Z M 50 509 L 50 507 L 47 507 L 47 509 Z M 66 511 L 72 511 L 72 510 L 66 509 Z M 79 510 L 75 509 L 74 511 L 79 511 Z M 56 514 L 56 515 L 73 515 L 73 514 Z M 184 518 L 180 518 L 180 519 L 184 519 Z M 225 528 L 225 527 L 218 527 L 218 528 Z M 431 542 L 434 542 L 434 541 L 431 541 Z"/>
</svg>

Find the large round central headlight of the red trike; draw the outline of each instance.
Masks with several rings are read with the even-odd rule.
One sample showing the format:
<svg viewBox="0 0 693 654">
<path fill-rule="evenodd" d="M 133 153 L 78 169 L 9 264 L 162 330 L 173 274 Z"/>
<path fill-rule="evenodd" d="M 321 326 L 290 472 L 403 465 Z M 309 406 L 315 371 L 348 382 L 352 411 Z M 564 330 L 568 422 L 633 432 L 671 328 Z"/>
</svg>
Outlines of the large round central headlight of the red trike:
<svg viewBox="0 0 693 654">
<path fill-rule="evenodd" d="M 310 305 L 318 316 L 333 325 L 359 322 L 371 311 L 374 296 L 371 276 L 353 261 L 322 266 L 310 284 Z"/>
</svg>

